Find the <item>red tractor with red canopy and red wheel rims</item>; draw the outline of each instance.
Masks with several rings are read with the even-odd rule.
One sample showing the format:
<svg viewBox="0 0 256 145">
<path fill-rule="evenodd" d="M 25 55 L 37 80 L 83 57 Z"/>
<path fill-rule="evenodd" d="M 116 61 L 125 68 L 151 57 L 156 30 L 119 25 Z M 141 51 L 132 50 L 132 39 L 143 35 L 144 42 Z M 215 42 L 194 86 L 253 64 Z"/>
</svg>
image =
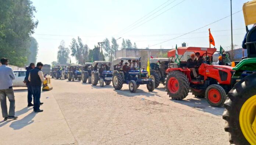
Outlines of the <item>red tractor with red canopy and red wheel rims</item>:
<svg viewBox="0 0 256 145">
<path fill-rule="evenodd" d="M 180 56 L 174 62 L 175 54 Z M 186 60 L 189 53 L 199 52 L 204 62 L 196 69 L 198 78 L 194 78 L 192 71 L 187 67 Z M 234 86 L 232 79 L 235 73 L 230 66 L 210 65 L 216 48 L 179 47 L 168 51 L 169 68 L 166 70 L 166 92 L 173 100 L 182 100 L 188 96 L 189 90 L 196 97 L 206 97 L 208 103 L 214 107 L 221 107 L 227 93 Z M 176 54 L 177 56 L 177 54 Z"/>
</svg>

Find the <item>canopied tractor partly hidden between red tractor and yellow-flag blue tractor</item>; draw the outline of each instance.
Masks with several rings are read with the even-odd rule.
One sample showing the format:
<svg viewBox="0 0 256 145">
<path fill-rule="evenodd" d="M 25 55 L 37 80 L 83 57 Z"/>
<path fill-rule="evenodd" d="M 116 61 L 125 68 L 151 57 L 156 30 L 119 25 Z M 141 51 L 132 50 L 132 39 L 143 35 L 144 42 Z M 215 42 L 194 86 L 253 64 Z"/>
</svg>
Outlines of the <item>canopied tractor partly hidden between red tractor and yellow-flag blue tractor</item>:
<svg viewBox="0 0 256 145">
<path fill-rule="evenodd" d="M 150 76 L 156 85 L 156 88 L 160 83 L 165 85 L 166 72 L 168 68 L 169 59 L 168 58 L 153 58 L 149 60 L 150 62 Z"/>
</svg>

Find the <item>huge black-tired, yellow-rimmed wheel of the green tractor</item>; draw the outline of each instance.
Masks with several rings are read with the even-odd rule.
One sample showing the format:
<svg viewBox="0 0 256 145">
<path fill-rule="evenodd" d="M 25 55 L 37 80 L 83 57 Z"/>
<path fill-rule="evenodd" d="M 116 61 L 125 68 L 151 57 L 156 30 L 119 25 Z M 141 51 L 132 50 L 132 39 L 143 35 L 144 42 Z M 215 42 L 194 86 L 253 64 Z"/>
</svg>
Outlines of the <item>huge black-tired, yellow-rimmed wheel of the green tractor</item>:
<svg viewBox="0 0 256 145">
<path fill-rule="evenodd" d="M 256 144 L 256 74 L 241 79 L 224 103 L 225 131 L 231 144 Z"/>
</svg>

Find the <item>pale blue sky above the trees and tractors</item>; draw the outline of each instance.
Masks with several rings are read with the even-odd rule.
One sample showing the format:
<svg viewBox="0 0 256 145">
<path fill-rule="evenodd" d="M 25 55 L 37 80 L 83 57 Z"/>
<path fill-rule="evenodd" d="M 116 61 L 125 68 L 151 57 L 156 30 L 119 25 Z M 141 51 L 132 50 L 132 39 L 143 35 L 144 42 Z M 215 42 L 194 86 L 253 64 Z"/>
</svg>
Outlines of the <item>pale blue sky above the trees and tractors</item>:
<svg viewBox="0 0 256 145">
<path fill-rule="evenodd" d="M 93 48 L 97 42 L 111 37 L 130 39 L 138 48 L 158 44 L 198 29 L 230 15 L 230 0 L 169 0 L 163 10 L 150 16 L 136 26 L 156 18 L 126 33 L 119 33 L 167 0 L 32 0 L 36 7 L 35 17 L 39 21 L 33 37 L 39 44 L 38 61 L 50 64 L 57 60 L 58 45 L 61 40 L 66 46 L 72 38 L 81 37 L 83 43 Z M 248 0 L 232 0 L 232 11 L 242 10 Z M 179 3 L 179 4 L 178 4 Z M 178 4 L 178 5 L 176 5 Z M 176 5 L 176 6 L 175 6 Z M 156 10 L 156 11 L 157 11 Z M 154 12 L 156 12 L 154 11 Z M 153 14 L 153 12 L 151 13 Z M 149 15 L 148 15 L 149 16 Z M 141 19 L 143 20 L 143 19 Z M 135 27 L 136 27 L 135 26 Z M 230 17 L 177 39 L 149 47 L 150 49 L 174 48 L 186 42 L 188 46 L 209 47 L 209 33 L 214 37 L 216 48 L 231 45 Z M 165 34 L 165 35 L 163 35 Z M 233 15 L 233 41 L 241 46 L 245 34 L 243 13 Z M 157 36 L 152 36 L 157 35 Z M 121 45 L 122 40 L 118 40 Z M 72 62 L 75 59 L 71 57 Z"/>
</svg>

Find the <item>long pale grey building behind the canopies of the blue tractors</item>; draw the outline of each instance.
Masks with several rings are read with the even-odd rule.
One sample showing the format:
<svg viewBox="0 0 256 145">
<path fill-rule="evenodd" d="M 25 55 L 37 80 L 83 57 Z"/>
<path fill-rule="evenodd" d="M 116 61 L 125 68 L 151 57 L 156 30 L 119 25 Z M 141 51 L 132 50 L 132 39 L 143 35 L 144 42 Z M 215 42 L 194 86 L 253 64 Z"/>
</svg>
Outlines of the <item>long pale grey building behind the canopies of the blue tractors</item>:
<svg viewBox="0 0 256 145">
<path fill-rule="evenodd" d="M 117 57 L 141 57 L 141 65 L 147 66 L 147 58 L 152 56 L 167 57 L 167 52 L 171 49 L 122 49 L 116 52 Z"/>
</svg>

